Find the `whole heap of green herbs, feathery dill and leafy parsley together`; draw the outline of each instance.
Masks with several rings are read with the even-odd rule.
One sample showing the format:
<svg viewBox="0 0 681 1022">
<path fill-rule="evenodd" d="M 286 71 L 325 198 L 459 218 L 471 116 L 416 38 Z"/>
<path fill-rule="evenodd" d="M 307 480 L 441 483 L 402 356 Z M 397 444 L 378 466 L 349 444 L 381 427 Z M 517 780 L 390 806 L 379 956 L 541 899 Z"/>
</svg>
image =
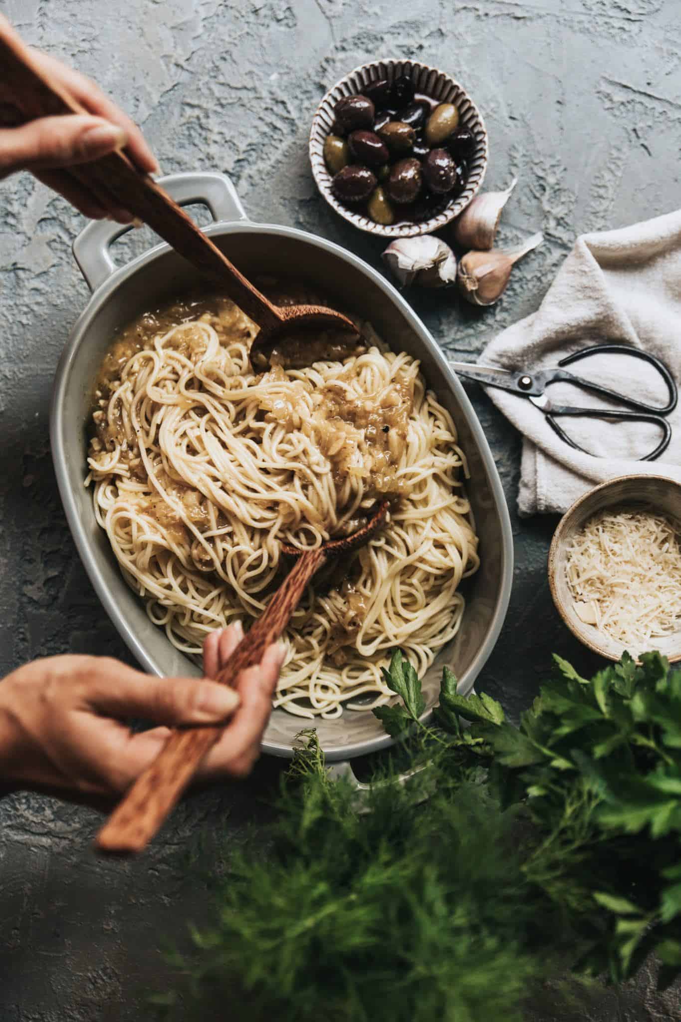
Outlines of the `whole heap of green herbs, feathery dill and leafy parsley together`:
<svg viewBox="0 0 681 1022">
<path fill-rule="evenodd" d="M 231 857 L 213 927 L 172 957 L 183 1022 L 223 1017 L 227 1000 L 252 1020 L 520 1022 L 560 971 L 619 982 L 651 951 L 672 982 L 681 671 L 625 655 L 587 680 L 554 659 L 518 727 L 489 696 L 458 695 L 446 668 L 425 724 L 395 652 L 385 677 L 401 702 L 375 713 L 425 769 L 401 787 L 384 763 L 368 812 L 305 733 L 267 853 Z"/>
</svg>

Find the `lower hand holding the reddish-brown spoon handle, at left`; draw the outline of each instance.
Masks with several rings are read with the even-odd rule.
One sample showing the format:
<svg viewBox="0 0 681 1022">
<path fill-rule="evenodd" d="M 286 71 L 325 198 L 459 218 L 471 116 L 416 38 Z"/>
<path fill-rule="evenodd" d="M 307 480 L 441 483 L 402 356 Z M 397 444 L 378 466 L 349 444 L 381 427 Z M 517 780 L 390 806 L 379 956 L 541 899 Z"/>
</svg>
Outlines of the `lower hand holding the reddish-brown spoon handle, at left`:
<svg viewBox="0 0 681 1022">
<path fill-rule="evenodd" d="M 205 643 L 214 675 L 243 637 L 240 624 Z M 78 796 L 125 791 L 160 752 L 167 727 L 133 733 L 142 717 L 163 725 L 227 724 L 197 778 L 244 777 L 255 761 L 283 660 L 270 647 L 242 671 L 237 691 L 207 679 L 155 678 L 108 657 L 35 660 L 0 682 L 0 780 Z"/>
</svg>

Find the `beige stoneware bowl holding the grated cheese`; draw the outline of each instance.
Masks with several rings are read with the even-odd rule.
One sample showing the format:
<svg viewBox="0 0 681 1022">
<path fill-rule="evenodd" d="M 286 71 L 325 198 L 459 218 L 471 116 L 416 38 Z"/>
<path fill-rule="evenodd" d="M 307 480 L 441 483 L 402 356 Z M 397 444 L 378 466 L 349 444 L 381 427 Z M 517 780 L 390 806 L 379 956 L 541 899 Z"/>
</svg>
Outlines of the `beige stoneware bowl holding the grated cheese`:
<svg viewBox="0 0 681 1022">
<path fill-rule="evenodd" d="M 604 508 L 615 510 L 624 506 L 646 508 L 681 521 L 681 486 L 661 475 L 622 475 L 594 486 L 566 511 L 548 552 L 548 584 L 561 617 L 580 642 L 609 660 L 619 660 L 624 646 L 595 625 L 585 624 L 578 616 L 568 588 L 566 564 L 573 539 L 587 520 Z M 672 636 L 655 639 L 654 647 L 669 660 L 681 660 L 681 628 Z M 637 656 L 645 650 L 630 649 L 629 652 Z"/>
</svg>

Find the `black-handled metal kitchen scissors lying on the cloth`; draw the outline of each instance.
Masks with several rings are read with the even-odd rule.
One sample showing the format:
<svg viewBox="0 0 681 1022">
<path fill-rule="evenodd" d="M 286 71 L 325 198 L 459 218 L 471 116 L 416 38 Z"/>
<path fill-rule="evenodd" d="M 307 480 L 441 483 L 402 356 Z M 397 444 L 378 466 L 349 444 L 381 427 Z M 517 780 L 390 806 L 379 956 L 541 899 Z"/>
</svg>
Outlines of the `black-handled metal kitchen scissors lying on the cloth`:
<svg viewBox="0 0 681 1022">
<path fill-rule="evenodd" d="M 564 368 L 593 355 L 628 355 L 647 362 L 648 365 L 658 371 L 667 384 L 669 392 L 667 405 L 664 408 L 656 408 L 654 405 L 645 405 L 642 401 L 636 401 L 634 398 L 619 393 L 617 390 L 611 390 L 610 387 L 600 386 L 598 383 L 593 383 L 582 376 L 576 376 Z M 498 366 L 478 366 L 470 362 L 450 362 L 449 367 L 465 379 L 477 380 L 478 383 L 483 383 L 485 386 L 499 387 L 501 390 L 507 390 L 509 393 L 527 398 L 536 408 L 544 413 L 549 426 L 558 434 L 561 439 L 577 451 L 584 452 L 584 454 L 590 454 L 590 452 L 580 447 L 579 444 L 576 444 L 575 440 L 568 436 L 556 422 L 557 417 L 571 415 L 589 419 L 625 419 L 629 422 L 651 422 L 660 426 L 663 431 L 662 440 L 654 451 L 645 455 L 644 458 L 639 458 L 639 461 L 654 461 L 655 458 L 659 458 L 667 450 L 669 442 L 672 438 L 672 427 L 665 416 L 674 411 L 678 401 L 678 389 L 674 377 L 667 366 L 659 359 L 655 359 L 653 355 L 641 352 L 637 347 L 630 347 L 628 344 L 593 344 L 590 347 L 583 347 L 581 351 L 574 352 L 565 359 L 561 359 L 557 366 L 549 369 L 539 369 L 534 373 L 501 369 Z M 557 383 L 558 381 L 574 383 L 575 386 L 580 387 L 582 390 L 597 393 L 601 398 L 610 398 L 625 407 L 623 409 L 610 409 L 556 405 L 545 390 L 550 383 Z"/>
</svg>

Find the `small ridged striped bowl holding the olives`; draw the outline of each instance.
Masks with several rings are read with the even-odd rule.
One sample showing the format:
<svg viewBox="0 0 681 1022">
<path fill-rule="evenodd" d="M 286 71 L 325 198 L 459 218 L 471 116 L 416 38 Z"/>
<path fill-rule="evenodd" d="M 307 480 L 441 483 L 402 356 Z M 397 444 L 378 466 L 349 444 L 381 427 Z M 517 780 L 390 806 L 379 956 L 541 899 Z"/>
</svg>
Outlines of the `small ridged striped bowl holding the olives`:
<svg viewBox="0 0 681 1022">
<path fill-rule="evenodd" d="M 459 125 L 469 128 L 475 135 L 478 145 L 475 154 L 469 161 L 469 178 L 465 190 L 451 200 L 442 213 L 421 224 L 393 224 L 387 227 L 376 224 L 361 212 L 354 212 L 344 205 L 334 195 L 331 189 L 332 175 L 327 170 L 324 159 L 324 141 L 331 133 L 336 120 L 334 106 L 343 96 L 357 95 L 370 82 L 385 78 L 389 82 L 408 75 L 417 92 L 421 92 L 438 103 L 454 103 L 458 108 Z M 309 161 L 317 186 L 336 213 L 354 224 L 362 231 L 384 238 L 411 238 L 418 234 L 432 234 L 449 224 L 463 213 L 473 196 L 480 189 L 485 171 L 487 170 L 487 132 L 477 106 L 461 88 L 461 86 L 436 67 L 415 63 L 414 60 L 377 60 L 375 63 L 362 64 L 342 78 L 330 90 L 320 103 L 312 120 L 309 133 Z"/>
</svg>

